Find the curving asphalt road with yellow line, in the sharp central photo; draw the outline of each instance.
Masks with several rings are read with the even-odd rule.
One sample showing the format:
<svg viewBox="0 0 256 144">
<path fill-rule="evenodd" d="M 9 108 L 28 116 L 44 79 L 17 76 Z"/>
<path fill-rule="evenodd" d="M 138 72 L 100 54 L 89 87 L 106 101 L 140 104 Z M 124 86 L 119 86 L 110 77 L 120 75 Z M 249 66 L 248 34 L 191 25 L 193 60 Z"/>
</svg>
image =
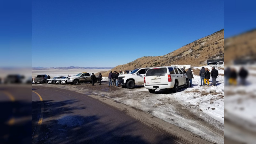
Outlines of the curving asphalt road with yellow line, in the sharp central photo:
<svg viewBox="0 0 256 144">
<path fill-rule="evenodd" d="M 210 143 L 151 125 L 88 93 L 32 86 L 32 143 Z"/>
</svg>

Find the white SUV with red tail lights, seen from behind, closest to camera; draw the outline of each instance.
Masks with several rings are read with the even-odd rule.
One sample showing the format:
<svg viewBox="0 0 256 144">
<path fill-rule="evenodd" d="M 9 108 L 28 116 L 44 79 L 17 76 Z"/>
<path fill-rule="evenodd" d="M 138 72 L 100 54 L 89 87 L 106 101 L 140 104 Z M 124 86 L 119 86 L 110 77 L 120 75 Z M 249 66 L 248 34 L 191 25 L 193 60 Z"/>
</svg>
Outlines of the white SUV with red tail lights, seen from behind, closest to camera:
<svg viewBox="0 0 256 144">
<path fill-rule="evenodd" d="M 144 86 L 150 93 L 156 89 L 172 89 L 178 92 L 179 87 L 188 87 L 188 76 L 176 67 L 150 68 L 144 77 Z"/>
</svg>

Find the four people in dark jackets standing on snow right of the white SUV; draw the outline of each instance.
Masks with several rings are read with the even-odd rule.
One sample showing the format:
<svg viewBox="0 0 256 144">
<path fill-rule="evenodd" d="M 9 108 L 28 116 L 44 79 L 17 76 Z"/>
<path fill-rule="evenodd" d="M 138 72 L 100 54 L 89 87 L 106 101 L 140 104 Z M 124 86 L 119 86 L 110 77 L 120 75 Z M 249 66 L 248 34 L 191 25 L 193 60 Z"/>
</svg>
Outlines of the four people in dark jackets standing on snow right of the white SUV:
<svg viewBox="0 0 256 144">
<path fill-rule="evenodd" d="M 183 71 L 183 73 L 187 74 L 188 80 L 189 80 L 189 87 L 192 87 L 192 79 L 194 78 L 193 73 L 192 73 L 192 68 L 188 68 L 188 71 L 185 71 L 183 68 L 181 68 L 181 70 Z M 219 75 L 219 72 L 217 69 L 215 69 L 214 66 L 212 67 L 211 73 L 208 68 L 202 67 L 202 69 L 200 69 L 200 72 L 199 72 L 199 76 L 200 76 L 200 80 L 201 80 L 200 86 L 210 85 L 209 79 L 211 78 L 211 76 L 212 76 L 212 85 L 216 86 L 218 75 Z M 206 84 L 206 82 L 207 82 L 207 84 Z"/>
</svg>

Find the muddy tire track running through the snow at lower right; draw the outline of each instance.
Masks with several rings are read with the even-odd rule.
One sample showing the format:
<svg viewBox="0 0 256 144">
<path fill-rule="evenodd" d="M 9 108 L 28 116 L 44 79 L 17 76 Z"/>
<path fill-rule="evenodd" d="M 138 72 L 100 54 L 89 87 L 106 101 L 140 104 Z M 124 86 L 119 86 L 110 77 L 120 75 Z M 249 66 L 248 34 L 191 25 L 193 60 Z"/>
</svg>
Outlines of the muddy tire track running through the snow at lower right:
<svg viewBox="0 0 256 144">
<path fill-rule="evenodd" d="M 177 112 L 180 112 L 182 116 L 196 121 L 197 123 L 203 125 L 207 129 L 211 130 L 211 132 L 219 135 L 224 139 L 224 124 L 218 122 L 217 120 L 213 119 L 211 116 L 208 116 L 205 113 L 200 113 L 200 116 L 197 116 L 196 114 L 189 111 L 187 108 L 184 108 L 184 106 L 176 100 L 171 100 L 168 103 L 174 106 L 174 108 L 177 109 Z"/>
</svg>

